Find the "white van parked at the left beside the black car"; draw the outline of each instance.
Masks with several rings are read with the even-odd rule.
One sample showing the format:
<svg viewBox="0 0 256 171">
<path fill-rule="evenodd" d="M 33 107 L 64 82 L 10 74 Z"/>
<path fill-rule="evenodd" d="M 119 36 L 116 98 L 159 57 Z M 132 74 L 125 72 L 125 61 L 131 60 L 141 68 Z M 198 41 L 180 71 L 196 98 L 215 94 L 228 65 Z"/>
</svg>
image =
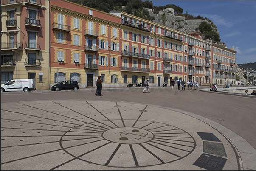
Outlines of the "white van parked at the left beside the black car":
<svg viewBox="0 0 256 171">
<path fill-rule="evenodd" d="M 34 79 L 17 79 L 1 85 L 2 92 L 36 90 Z"/>
</svg>

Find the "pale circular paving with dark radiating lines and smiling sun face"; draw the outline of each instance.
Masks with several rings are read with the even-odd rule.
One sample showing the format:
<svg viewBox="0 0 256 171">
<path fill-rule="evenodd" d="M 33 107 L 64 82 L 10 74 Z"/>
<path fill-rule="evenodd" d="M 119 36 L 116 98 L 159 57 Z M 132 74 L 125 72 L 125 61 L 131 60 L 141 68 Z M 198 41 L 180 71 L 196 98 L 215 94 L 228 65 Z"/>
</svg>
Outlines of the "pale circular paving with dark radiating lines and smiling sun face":
<svg viewBox="0 0 256 171">
<path fill-rule="evenodd" d="M 197 132 L 211 132 L 224 142 L 225 167 L 237 169 L 232 147 L 216 129 L 153 105 L 87 100 L 2 103 L 1 123 L 2 170 L 175 170 L 181 165 L 184 170 L 204 170 L 192 165 L 203 153 Z"/>
</svg>

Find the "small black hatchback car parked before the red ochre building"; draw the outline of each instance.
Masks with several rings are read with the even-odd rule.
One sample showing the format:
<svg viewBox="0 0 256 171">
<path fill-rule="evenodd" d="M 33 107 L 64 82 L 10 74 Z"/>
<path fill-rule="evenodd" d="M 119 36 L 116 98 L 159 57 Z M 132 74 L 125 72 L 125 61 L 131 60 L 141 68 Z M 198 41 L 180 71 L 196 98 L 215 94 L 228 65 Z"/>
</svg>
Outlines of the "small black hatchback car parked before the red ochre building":
<svg viewBox="0 0 256 171">
<path fill-rule="evenodd" d="M 55 84 L 51 87 L 52 91 L 59 91 L 59 90 L 78 90 L 79 86 L 77 81 L 68 80 L 68 81 L 62 81 L 58 84 Z"/>
</svg>

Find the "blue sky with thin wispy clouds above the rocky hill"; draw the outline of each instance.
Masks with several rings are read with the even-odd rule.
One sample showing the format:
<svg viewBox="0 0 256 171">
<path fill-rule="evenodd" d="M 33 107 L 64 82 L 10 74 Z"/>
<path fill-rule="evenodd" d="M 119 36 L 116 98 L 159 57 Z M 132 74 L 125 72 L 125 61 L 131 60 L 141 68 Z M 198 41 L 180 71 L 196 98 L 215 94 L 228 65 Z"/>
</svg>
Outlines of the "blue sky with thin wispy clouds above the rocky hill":
<svg viewBox="0 0 256 171">
<path fill-rule="evenodd" d="M 149 0 L 154 6 L 174 4 L 183 14 L 210 19 L 227 48 L 234 46 L 236 63 L 256 62 L 256 0 Z"/>
</svg>

